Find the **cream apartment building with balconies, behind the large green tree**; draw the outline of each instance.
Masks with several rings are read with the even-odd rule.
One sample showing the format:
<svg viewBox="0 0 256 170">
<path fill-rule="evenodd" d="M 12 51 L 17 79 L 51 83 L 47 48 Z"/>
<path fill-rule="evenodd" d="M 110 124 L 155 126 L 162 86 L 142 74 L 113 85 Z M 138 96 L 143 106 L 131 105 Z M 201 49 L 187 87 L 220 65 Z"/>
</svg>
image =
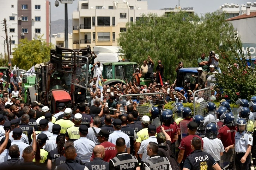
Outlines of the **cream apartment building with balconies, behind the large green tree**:
<svg viewBox="0 0 256 170">
<path fill-rule="evenodd" d="M 149 10 L 147 1 L 139 0 L 80 0 L 78 11 L 73 12 L 73 48 L 117 46 L 127 22 L 136 22 L 142 14 L 163 15 L 181 10 L 194 13 L 193 8 Z"/>
</svg>

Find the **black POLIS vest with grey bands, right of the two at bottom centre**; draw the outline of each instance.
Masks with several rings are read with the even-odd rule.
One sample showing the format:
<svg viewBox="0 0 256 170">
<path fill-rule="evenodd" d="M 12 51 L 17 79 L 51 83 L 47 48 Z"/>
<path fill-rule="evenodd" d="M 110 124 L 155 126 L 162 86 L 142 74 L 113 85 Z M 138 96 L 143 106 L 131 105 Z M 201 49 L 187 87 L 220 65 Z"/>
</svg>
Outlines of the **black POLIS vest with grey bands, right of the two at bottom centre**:
<svg viewBox="0 0 256 170">
<path fill-rule="evenodd" d="M 170 166 L 168 159 L 159 155 L 151 157 L 144 162 L 144 164 L 146 164 L 150 170 L 168 170 Z"/>
</svg>

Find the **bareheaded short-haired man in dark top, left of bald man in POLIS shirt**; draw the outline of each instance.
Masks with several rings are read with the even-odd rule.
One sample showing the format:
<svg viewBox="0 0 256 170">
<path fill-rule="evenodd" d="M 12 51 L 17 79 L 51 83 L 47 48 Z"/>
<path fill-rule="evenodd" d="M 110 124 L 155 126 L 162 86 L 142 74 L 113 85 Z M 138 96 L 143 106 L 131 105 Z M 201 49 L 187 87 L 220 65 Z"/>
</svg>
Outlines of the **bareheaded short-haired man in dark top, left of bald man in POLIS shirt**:
<svg viewBox="0 0 256 170">
<path fill-rule="evenodd" d="M 56 170 L 84 170 L 85 166 L 80 165 L 75 160 L 76 155 L 76 149 L 74 146 L 67 146 L 65 149 L 66 162 L 62 165 L 56 166 Z"/>
</svg>

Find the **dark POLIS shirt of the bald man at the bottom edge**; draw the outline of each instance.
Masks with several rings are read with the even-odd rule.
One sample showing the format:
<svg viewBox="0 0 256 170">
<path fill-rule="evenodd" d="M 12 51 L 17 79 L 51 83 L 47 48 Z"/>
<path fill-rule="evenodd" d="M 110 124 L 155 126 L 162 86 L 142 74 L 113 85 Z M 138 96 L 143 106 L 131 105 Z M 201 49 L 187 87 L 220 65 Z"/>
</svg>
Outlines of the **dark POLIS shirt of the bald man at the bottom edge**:
<svg viewBox="0 0 256 170">
<path fill-rule="evenodd" d="M 102 158 L 94 158 L 92 162 L 85 164 L 85 170 L 109 170 L 109 163 Z"/>
</svg>

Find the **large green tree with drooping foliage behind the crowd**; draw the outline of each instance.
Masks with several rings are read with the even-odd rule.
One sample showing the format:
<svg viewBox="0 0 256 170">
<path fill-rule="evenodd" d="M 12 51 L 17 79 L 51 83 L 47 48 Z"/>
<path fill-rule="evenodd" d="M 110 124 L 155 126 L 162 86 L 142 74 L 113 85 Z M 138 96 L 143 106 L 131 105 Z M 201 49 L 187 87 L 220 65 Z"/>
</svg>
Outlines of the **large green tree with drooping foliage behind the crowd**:
<svg viewBox="0 0 256 170">
<path fill-rule="evenodd" d="M 136 22 L 127 23 L 127 31 L 120 33 L 117 42 L 127 59 L 140 65 L 148 55 L 156 65 L 161 59 L 165 79 L 174 80 L 179 61 L 184 67 L 198 67 L 201 53 L 208 56 L 214 50 L 218 54 L 220 47 L 228 50 L 235 45 L 234 28 L 225 19 L 218 11 L 202 17 L 187 12 L 142 15 Z"/>
</svg>

